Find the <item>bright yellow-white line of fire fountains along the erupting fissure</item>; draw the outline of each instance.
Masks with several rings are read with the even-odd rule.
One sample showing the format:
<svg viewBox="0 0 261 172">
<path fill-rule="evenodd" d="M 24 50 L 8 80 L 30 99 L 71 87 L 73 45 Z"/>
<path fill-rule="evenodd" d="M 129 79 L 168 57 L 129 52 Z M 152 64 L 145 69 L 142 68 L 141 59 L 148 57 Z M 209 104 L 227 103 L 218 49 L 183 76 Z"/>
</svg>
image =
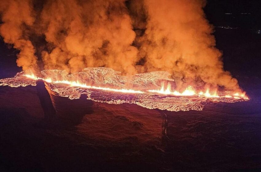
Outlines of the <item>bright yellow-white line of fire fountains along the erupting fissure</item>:
<svg viewBox="0 0 261 172">
<path fill-rule="evenodd" d="M 107 87 L 97 87 L 97 86 L 90 86 L 87 84 L 80 83 L 79 81 L 68 81 L 68 80 L 55 80 L 53 81 L 51 78 L 40 78 L 35 76 L 34 74 L 28 75 L 25 74 L 27 78 L 33 79 L 33 80 L 44 80 L 47 83 L 54 83 L 54 84 L 68 84 L 70 87 L 80 87 L 80 88 L 92 88 L 92 89 L 97 89 L 97 90 L 104 90 L 104 91 L 112 91 L 112 92 L 122 92 L 122 93 L 135 93 L 135 94 L 143 94 L 145 92 L 150 92 L 150 93 L 157 93 L 157 94 L 163 94 L 163 95 L 172 95 L 172 96 L 205 96 L 207 98 L 229 98 L 229 99 L 244 99 L 244 100 L 249 100 L 249 98 L 245 95 L 245 93 L 234 93 L 232 95 L 224 95 L 224 96 L 219 96 L 217 95 L 216 92 L 210 93 L 209 89 L 207 89 L 205 92 L 196 92 L 192 86 L 188 86 L 183 92 L 178 92 L 176 90 L 171 89 L 171 85 L 168 84 L 167 88 L 164 88 L 164 84 L 162 84 L 161 89 L 158 90 L 145 90 L 145 91 L 140 91 L 140 90 L 133 90 L 133 89 L 116 89 L 116 88 L 107 88 Z"/>
</svg>

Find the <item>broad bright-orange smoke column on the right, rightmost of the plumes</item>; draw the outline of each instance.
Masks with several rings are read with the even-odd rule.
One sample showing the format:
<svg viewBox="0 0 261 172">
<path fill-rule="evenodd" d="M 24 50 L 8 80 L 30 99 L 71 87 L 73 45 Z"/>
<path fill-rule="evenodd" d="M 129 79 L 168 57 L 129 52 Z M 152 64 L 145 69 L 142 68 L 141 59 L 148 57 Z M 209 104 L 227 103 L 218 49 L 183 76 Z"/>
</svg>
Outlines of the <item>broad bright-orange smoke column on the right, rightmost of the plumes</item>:
<svg viewBox="0 0 261 172">
<path fill-rule="evenodd" d="M 146 31 L 139 39 L 145 71 L 172 73 L 179 86 L 193 82 L 237 88 L 237 80 L 223 69 L 215 48 L 212 25 L 205 18 L 204 1 L 144 0 Z"/>
</svg>

